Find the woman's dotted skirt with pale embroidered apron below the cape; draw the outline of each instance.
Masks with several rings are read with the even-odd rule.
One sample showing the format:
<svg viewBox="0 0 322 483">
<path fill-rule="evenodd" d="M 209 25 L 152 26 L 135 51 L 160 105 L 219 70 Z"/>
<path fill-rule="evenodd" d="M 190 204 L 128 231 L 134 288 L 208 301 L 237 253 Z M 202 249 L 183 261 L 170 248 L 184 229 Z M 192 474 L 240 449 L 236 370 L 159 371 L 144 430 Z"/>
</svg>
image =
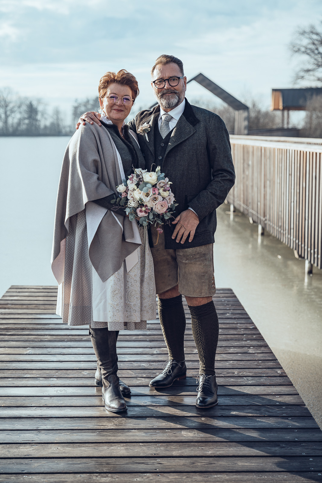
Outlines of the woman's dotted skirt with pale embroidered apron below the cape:
<svg viewBox="0 0 322 483">
<path fill-rule="evenodd" d="M 85 210 L 70 218 L 66 237 L 64 282 L 59 285 L 57 314 L 70 326 L 109 330 L 144 330 L 156 313 L 151 250 L 140 228 L 139 261 L 126 264 L 102 282 L 88 256 Z M 112 256 L 112 254 L 111 254 Z"/>
</svg>

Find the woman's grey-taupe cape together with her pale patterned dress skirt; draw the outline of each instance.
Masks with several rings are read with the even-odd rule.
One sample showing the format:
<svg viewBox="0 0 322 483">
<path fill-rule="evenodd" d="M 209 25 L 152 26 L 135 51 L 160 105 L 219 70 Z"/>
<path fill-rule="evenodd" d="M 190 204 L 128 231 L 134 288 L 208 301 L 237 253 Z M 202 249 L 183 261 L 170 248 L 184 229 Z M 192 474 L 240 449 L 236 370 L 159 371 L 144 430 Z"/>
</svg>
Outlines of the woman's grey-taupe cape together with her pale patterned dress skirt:
<svg viewBox="0 0 322 483">
<path fill-rule="evenodd" d="M 144 167 L 135 134 L 130 134 Z M 116 186 L 125 179 L 120 152 L 127 157 L 126 171 L 128 153 L 121 145 L 117 149 L 118 142 L 111 130 L 86 125 L 75 132 L 65 152 L 52 270 L 59 284 L 56 313 L 71 326 L 134 330 L 145 329 L 146 321 L 155 319 L 154 267 L 147 237 L 135 221 L 94 202 L 117 195 Z"/>
</svg>

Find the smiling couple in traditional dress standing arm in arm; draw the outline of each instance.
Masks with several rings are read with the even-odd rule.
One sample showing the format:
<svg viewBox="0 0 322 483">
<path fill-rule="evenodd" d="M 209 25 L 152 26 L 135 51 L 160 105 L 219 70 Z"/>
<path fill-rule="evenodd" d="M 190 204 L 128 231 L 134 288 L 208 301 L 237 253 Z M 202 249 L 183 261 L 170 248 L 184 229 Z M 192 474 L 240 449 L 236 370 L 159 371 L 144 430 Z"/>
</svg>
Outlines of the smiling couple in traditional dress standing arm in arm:
<svg viewBox="0 0 322 483">
<path fill-rule="evenodd" d="M 135 77 L 122 70 L 101 78 L 101 114 L 81 116 L 57 195 L 52 254 L 57 313 L 69 325 L 89 324 L 98 364 L 95 384 L 112 412 L 126 410 L 123 396 L 130 394 L 117 376 L 118 331 L 145 329 L 155 318 L 155 289 L 169 359 L 150 386 L 169 387 L 186 377 L 184 295 L 200 360 L 196 406 L 218 403 L 213 242 L 216 208 L 235 181 L 229 135 L 218 115 L 185 99 L 180 59 L 158 57 L 151 76 L 158 106 L 128 124 L 124 120 L 139 94 Z M 152 171 L 157 165 L 172 182 L 178 206 L 175 221 L 159 238 L 151 227 L 150 250 L 142 229 L 114 199 L 132 166 Z"/>
</svg>

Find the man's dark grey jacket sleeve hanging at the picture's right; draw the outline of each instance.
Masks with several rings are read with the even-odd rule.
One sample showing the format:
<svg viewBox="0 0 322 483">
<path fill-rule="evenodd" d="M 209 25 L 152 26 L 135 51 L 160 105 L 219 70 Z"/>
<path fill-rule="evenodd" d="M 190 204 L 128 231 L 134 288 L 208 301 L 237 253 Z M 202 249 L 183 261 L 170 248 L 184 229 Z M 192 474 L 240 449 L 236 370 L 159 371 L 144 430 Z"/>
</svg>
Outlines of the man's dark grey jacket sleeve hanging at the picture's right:
<svg viewBox="0 0 322 483">
<path fill-rule="evenodd" d="M 202 220 L 224 203 L 229 191 L 235 184 L 235 169 L 231 156 L 229 134 L 224 121 L 214 115 L 207 139 L 207 151 L 212 170 L 212 180 L 189 206 Z"/>
</svg>

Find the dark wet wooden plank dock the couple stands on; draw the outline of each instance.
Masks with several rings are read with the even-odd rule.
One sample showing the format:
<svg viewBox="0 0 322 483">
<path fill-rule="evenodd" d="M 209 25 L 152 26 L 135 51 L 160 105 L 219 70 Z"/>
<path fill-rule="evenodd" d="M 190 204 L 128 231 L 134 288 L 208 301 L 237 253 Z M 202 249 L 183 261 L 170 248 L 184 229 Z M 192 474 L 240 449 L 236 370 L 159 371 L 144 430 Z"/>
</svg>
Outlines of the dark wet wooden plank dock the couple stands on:
<svg viewBox="0 0 322 483">
<path fill-rule="evenodd" d="M 219 405 L 195 406 L 189 319 L 189 377 L 148 386 L 168 358 L 155 320 L 119 336 L 126 415 L 104 409 L 88 328 L 62 325 L 56 293 L 12 286 L 0 299 L 0 482 L 322 481 L 322 431 L 231 289 L 214 297 Z"/>
</svg>

